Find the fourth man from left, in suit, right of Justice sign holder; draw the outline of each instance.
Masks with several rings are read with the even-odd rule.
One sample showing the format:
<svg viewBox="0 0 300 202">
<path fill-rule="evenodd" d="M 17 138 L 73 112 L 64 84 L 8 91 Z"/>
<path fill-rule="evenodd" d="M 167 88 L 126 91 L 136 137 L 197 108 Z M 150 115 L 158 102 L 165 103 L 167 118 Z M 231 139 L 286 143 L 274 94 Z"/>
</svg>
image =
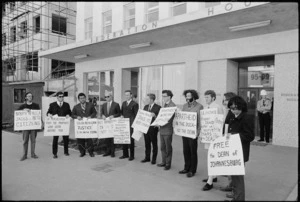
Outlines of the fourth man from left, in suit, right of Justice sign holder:
<svg viewBox="0 0 300 202">
<path fill-rule="evenodd" d="M 102 105 L 101 114 L 103 119 L 112 119 L 120 116 L 120 105 L 112 101 L 112 92 L 108 92 L 105 95 L 106 103 Z M 114 138 L 106 138 L 106 152 L 103 156 L 111 155 L 115 157 L 115 145 Z"/>
</svg>

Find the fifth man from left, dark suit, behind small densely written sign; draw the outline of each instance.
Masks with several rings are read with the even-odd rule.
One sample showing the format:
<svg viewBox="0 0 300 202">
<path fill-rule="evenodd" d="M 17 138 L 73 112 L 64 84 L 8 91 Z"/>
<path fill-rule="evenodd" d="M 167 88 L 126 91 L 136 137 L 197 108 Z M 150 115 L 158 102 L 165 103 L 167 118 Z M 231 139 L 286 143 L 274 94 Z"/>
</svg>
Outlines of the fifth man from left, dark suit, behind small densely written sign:
<svg viewBox="0 0 300 202">
<path fill-rule="evenodd" d="M 121 108 L 121 115 L 124 118 L 129 118 L 130 120 L 130 158 L 129 161 L 132 161 L 134 159 L 134 139 L 131 137 L 133 133 L 133 128 L 131 127 L 136 114 L 139 110 L 139 105 L 135 101 L 132 100 L 132 92 L 131 90 L 125 91 L 125 98 L 126 101 L 122 103 Z M 128 158 L 128 146 L 129 144 L 123 145 L 123 156 L 120 157 L 120 159 Z"/>
</svg>

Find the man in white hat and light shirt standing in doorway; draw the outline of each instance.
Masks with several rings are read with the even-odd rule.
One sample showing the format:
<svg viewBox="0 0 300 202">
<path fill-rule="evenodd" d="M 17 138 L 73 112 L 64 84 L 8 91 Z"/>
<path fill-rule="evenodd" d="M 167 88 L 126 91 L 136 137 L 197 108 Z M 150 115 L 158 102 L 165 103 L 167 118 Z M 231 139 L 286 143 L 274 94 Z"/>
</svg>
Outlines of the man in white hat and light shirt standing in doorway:
<svg viewBox="0 0 300 202">
<path fill-rule="evenodd" d="M 257 102 L 257 111 L 259 118 L 259 126 L 260 126 L 260 139 L 258 142 L 265 141 L 264 131 L 266 130 L 266 142 L 269 143 L 270 138 L 270 127 L 271 127 L 271 117 L 270 111 L 272 107 L 272 102 L 269 98 L 267 98 L 267 91 L 260 91 L 261 99 Z"/>
</svg>

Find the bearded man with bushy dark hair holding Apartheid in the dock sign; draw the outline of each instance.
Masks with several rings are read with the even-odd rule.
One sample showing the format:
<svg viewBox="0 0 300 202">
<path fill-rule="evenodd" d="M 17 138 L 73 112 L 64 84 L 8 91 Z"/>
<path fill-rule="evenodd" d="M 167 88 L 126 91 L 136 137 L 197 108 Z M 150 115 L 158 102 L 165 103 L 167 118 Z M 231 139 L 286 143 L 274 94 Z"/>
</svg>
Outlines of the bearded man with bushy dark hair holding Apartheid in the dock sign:
<svg viewBox="0 0 300 202">
<path fill-rule="evenodd" d="M 186 173 L 187 177 L 193 177 L 197 171 L 198 164 L 197 149 L 198 137 L 200 135 L 200 110 L 203 109 L 203 106 L 196 101 L 199 99 L 197 91 L 185 90 L 183 95 L 187 103 L 183 105 L 182 111 L 197 113 L 197 137 L 195 139 L 182 137 L 184 169 L 179 171 L 179 174 Z"/>
</svg>

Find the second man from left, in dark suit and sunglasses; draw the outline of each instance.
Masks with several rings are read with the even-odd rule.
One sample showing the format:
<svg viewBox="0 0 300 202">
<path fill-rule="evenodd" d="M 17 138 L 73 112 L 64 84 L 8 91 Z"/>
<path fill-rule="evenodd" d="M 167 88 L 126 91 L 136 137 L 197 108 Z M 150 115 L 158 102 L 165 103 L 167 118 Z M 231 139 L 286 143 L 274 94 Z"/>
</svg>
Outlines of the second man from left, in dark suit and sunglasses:
<svg viewBox="0 0 300 202">
<path fill-rule="evenodd" d="M 64 102 L 64 94 L 63 92 L 56 93 L 57 101 L 50 104 L 47 116 L 52 117 L 53 115 L 65 116 L 69 118 L 71 116 L 71 108 L 69 103 Z M 57 158 L 57 144 L 58 144 L 59 136 L 53 136 L 52 142 L 52 153 L 53 158 Z M 63 136 L 64 140 L 64 153 L 66 156 L 69 156 L 69 136 Z"/>
</svg>

